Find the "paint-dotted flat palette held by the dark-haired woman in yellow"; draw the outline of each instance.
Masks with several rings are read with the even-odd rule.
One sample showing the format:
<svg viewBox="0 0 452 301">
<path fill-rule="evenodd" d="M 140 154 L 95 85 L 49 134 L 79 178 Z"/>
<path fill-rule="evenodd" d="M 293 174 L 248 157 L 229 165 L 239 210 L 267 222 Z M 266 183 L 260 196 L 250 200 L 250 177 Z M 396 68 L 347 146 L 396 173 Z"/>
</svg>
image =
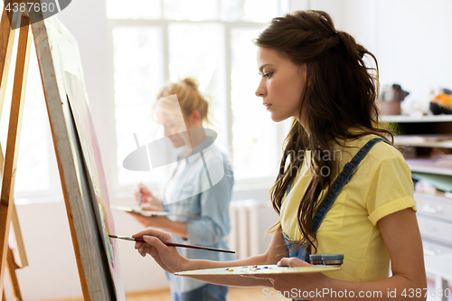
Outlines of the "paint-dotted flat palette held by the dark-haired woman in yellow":
<svg viewBox="0 0 452 301">
<path fill-rule="evenodd" d="M 339 270 L 340 267 L 333 266 L 312 266 L 312 267 L 278 267 L 277 265 L 231 267 L 231 268 L 205 268 L 186 270 L 174 273 L 177 276 L 192 275 L 256 275 L 256 274 L 299 274 L 299 273 L 320 273 Z"/>
</svg>

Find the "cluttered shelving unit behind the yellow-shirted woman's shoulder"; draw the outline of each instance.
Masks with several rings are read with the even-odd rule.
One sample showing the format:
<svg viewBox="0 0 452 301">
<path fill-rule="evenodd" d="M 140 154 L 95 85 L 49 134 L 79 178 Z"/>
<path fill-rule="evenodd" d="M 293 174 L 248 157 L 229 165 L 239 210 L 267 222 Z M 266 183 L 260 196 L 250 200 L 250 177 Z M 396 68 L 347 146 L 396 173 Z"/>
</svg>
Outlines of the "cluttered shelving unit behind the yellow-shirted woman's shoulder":
<svg viewBox="0 0 452 301">
<path fill-rule="evenodd" d="M 430 115 L 418 118 L 382 116 L 380 120 L 394 123 L 396 131 L 403 134 L 394 136 L 394 145 L 410 146 L 405 153 L 408 157 L 415 154 L 425 155 L 425 157 L 405 159 L 414 179 L 425 180 L 436 188 L 435 193 L 431 194 L 414 193 L 418 206 L 420 234 L 422 240 L 428 240 L 428 246 L 432 248 L 424 252 L 426 254 L 450 252 L 452 250 L 452 240 L 449 235 L 452 230 L 452 198 L 448 197 L 450 193 L 444 193 L 439 189 L 450 191 L 452 155 L 428 157 L 432 154 L 432 150 L 425 147 L 452 149 L 452 115 Z M 433 151 L 433 153 L 437 152 Z M 447 247 L 444 247 L 445 245 Z"/>
</svg>

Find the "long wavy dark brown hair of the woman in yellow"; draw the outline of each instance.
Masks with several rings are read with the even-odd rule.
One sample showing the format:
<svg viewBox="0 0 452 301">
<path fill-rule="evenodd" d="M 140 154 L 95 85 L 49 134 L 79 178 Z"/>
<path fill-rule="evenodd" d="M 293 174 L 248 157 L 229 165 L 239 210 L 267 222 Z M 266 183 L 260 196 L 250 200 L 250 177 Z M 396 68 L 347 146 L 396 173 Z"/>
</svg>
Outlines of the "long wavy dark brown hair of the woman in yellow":
<svg viewBox="0 0 452 301">
<path fill-rule="evenodd" d="M 270 198 L 279 214 L 288 183 L 294 180 L 297 175 L 294 171 L 303 164 L 305 157 L 299 155 L 300 151 L 315 150 L 316 154 L 311 156 L 314 176 L 297 211 L 298 227 L 302 233 L 297 246 L 316 249 L 317 240 L 311 222 L 316 206 L 324 202 L 338 172 L 337 162 L 324 160 L 330 157 L 328 154 L 333 154 L 331 141 L 344 146 L 338 139 L 369 134 L 385 139 L 385 136 L 391 136 L 392 139 L 391 132 L 378 123 L 375 103 L 378 96 L 377 60 L 350 34 L 336 31 L 331 16 L 322 11 L 298 11 L 274 18 L 254 42 L 259 47 L 275 50 L 298 65 L 306 64 L 306 83 L 299 108 L 299 116 L 304 110 L 306 129 L 294 119 Z M 374 68 L 366 66 L 363 61 L 365 54 L 375 61 Z M 350 128 L 361 130 L 351 133 Z M 325 195 L 322 193 L 324 190 Z"/>
</svg>

